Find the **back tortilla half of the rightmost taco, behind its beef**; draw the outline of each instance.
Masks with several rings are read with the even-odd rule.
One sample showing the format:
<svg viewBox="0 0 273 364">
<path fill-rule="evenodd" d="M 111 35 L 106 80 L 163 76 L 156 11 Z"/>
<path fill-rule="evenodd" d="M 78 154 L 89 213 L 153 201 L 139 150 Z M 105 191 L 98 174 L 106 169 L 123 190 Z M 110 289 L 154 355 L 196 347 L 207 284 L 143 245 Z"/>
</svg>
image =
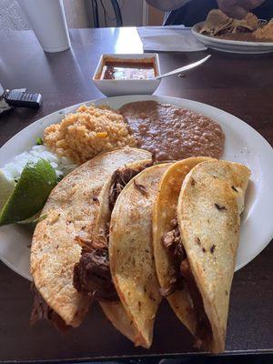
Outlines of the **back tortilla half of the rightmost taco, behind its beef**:
<svg viewBox="0 0 273 364">
<path fill-rule="evenodd" d="M 176 269 L 174 257 L 162 244 L 164 235 L 173 229 L 171 221 L 177 215 L 177 201 L 182 183 L 187 173 L 198 163 L 211 160 L 209 157 L 190 157 L 167 168 L 160 184 L 153 210 L 153 247 L 157 278 L 160 288 L 166 290 L 171 286 L 173 272 Z M 196 331 L 196 317 L 192 309 L 191 299 L 186 289 L 177 290 L 167 296 L 168 303 L 189 331 Z"/>
</svg>

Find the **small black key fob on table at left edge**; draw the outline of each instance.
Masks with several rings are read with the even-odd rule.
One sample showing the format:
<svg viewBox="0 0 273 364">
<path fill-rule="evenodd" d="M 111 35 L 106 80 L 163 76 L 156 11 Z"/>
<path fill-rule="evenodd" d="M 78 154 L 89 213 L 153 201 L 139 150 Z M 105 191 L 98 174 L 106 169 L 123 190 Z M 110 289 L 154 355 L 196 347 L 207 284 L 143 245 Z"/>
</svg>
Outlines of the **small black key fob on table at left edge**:
<svg viewBox="0 0 273 364">
<path fill-rule="evenodd" d="M 37 108 L 42 102 L 41 94 L 22 90 L 6 91 L 4 98 L 8 105 L 17 107 Z"/>
</svg>

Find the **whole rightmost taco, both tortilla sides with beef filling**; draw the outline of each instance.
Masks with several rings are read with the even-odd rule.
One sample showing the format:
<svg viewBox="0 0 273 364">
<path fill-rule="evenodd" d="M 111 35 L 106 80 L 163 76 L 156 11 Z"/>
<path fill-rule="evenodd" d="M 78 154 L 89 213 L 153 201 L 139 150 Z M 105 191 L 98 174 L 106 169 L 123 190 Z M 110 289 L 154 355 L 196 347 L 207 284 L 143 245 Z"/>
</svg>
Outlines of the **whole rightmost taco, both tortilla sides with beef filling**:
<svg viewBox="0 0 273 364">
<path fill-rule="evenodd" d="M 197 345 L 212 352 L 225 349 L 249 175 L 248 167 L 238 163 L 184 159 L 167 169 L 154 206 L 153 244 L 161 293 Z"/>
</svg>

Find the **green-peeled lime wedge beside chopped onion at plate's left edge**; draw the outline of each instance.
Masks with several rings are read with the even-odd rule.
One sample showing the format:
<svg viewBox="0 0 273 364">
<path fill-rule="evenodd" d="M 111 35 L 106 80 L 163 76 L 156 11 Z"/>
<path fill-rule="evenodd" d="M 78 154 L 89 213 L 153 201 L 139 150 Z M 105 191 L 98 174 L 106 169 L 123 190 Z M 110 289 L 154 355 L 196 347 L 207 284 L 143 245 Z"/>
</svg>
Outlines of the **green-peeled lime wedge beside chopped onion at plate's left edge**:
<svg viewBox="0 0 273 364">
<path fill-rule="evenodd" d="M 2 177 L 0 226 L 34 217 L 44 207 L 46 198 L 56 183 L 55 169 L 43 158 L 29 160 L 13 188 Z M 4 188 L 5 192 L 2 192 Z"/>
</svg>

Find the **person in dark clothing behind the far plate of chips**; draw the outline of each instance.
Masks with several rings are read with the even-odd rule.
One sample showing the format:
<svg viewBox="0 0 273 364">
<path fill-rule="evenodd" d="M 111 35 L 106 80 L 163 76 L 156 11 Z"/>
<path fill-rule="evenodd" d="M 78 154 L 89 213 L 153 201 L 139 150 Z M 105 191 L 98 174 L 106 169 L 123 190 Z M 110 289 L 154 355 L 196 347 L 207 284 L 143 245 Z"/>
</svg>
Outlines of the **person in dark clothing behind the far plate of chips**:
<svg viewBox="0 0 273 364">
<path fill-rule="evenodd" d="M 270 20 L 273 17 L 273 0 L 147 0 L 147 4 L 167 12 L 164 25 L 193 26 L 206 20 L 212 9 L 220 9 L 238 19 L 248 12 L 259 19 Z"/>
</svg>

